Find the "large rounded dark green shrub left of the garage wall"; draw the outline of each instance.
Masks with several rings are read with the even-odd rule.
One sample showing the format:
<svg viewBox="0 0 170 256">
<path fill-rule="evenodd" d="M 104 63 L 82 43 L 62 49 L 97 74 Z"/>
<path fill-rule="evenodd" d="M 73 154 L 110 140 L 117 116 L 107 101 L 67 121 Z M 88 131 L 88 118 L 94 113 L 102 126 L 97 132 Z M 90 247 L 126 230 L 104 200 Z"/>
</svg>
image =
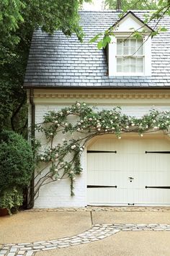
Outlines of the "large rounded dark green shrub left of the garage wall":
<svg viewBox="0 0 170 256">
<path fill-rule="evenodd" d="M 34 171 L 30 144 L 15 132 L 0 135 L 0 194 L 6 189 L 27 187 Z"/>
</svg>

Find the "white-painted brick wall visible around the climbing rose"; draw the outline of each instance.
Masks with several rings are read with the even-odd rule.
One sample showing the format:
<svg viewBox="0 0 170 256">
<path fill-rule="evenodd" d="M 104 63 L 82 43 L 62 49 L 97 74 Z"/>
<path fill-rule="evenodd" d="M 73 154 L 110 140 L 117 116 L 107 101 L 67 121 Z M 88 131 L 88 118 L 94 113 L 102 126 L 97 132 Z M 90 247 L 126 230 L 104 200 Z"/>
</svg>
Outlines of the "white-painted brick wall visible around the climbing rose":
<svg viewBox="0 0 170 256">
<path fill-rule="evenodd" d="M 75 102 L 79 99 L 75 98 Z M 66 101 L 66 100 L 65 100 Z M 84 100 L 85 101 L 85 100 Z M 97 107 L 99 109 L 102 108 L 113 108 L 113 105 L 105 105 L 102 102 L 101 105 L 99 104 L 100 99 L 94 99 L 94 103 L 97 103 Z M 107 99 L 106 99 L 107 101 Z M 86 102 L 86 101 L 85 101 Z M 157 100 L 158 103 L 158 100 Z M 65 105 L 67 105 L 65 103 Z M 70 104 L 71 105 L 71 104 Z M 92 105 L 92 104 L 91 104 Z M 156 104 L 158 105 L 159 110 L 170 110 L 170 106 Z M 116 105 L 117 106 L 117 105 Z M 142 116 L 143 114 L 146 114 L 149 109 L 151 109 L 153 106 L 150 105 L 149 99 L 148 103 L 146 104 L 140 104 L 140 106 L 135 105 L 129 105 L 128 106 L 122 106 L 122 112 L 125 114 L 129 114 L 132 116 Z M 59 106 L 57 105 L 48 105 L 46 104 L 36 104 L 36 116 L 35 120 L 36 123 L 40 123 L 42 121 L 42 116 L 47 113 L 50 110 L 59 110 L 60 108 L 63 108 L 63 105 Z M 156 108 L 156 106 L 155 106 Z M 29 119 L 30 120 L 30 119 Z M 42 141 L 42 144 L 45 144 L 44 138 L 42 135 L 37 135 L 37 137 Z M 71 197 L 71 189 L 70 189 L 70 182 L 67 179 L 53 182 L 50 184 L 47 184 L 43 186 L 40 189 L 40 195 L 35 200 L 35 208 L 58 208 L 58 207 L 83 207 L 86 205 L 86 150 L 83 153 L 81 157 L 81 163 L 82 168 L 84 169 L 83 173 L 76 179 L 76 182 L 74 183 L 74 193 L 75 196 Z"/>
</svg>

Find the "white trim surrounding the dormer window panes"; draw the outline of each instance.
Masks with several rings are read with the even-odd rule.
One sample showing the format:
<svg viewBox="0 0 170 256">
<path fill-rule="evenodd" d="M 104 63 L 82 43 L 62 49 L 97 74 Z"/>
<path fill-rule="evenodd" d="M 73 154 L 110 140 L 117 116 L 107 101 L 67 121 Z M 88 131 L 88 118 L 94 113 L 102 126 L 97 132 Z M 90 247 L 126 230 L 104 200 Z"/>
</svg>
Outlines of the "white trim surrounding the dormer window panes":
<svg viewBox="0 0 170 256">
<path fill-rule="evenodd" d="M 138 77 L 138 76 L 151 76 L 151 37 L 148 35 L 143 37 L 143 54 L 144 54 L 144 65 L 143 72 L 140 73 L 126 73 L 117 72 L 117 38 L 128 38 L 129 35 L 117 35 L 112 36 L 111 43 L 109 43 L 108 50 L 108 64 L 109 64 L 109 77 Z"/>
</svg>

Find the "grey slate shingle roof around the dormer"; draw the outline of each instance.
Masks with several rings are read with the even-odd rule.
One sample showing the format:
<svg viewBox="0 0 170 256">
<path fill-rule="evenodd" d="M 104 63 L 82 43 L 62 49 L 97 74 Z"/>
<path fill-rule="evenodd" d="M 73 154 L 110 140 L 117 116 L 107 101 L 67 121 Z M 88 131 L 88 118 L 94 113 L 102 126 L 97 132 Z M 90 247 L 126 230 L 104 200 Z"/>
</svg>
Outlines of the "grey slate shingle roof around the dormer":
<svg viewBox="0 0 170 256">
<path fill-rule="evenodd" d="M 141 20 L 148 11 L 134 11 Z M 151 77 L 109 77 L 106 54 L 95 43 L 94 35 L 106 30 L 117 20 L 118 12 L 80 12 L 86 34 L 84 43 L 76 35 L 70 38 L 56 31 L 53 35 L 36 30 L 24 80 L 26 88 L 170 88 L 170 33 L 152 40 Z M 156 20 L 149 26 L 156 27 Z M 159 23 L 170 31 L 170 17 Z"/>
</svg>

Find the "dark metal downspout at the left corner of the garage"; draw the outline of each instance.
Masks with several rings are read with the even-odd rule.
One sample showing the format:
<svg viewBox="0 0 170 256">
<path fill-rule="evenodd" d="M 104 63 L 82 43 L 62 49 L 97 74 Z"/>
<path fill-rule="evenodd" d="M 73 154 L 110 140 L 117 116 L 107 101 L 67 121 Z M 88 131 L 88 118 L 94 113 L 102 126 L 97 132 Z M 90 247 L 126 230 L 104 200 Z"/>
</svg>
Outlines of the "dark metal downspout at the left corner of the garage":
<svg viewBox="0 0 170 256">
<path fill-rule="evenodd" d="M 35 138 L 35 103 L 34 103 L 34 89 L 30 89 L 30 104 L 31 104 L 31 137 Z M 34 155 L 35 157 L 35 155 Z M 30 193 L 28 199 L 27 209 L 34 207 L 34 193 L 35 193 L 35 172 L 32 174 L 30 182 Z"/>
</svg>

